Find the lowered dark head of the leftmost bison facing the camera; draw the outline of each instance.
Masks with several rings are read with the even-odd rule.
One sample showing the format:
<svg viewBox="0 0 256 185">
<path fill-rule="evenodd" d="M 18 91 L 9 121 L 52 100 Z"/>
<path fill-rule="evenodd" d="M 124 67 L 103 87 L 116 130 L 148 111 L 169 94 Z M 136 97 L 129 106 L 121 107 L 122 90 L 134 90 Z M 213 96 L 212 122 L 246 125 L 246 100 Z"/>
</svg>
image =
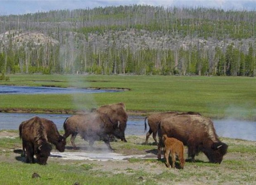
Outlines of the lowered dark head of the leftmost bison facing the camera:
<svg viewBox="0 0 256 185">
<path fill-rule="evenodd" d="M 40 146 L 35 148 L 35 154 L 39 164 L 46 164 L 51 150 L 52 146 L 49 143 L 42 143 Z"/>
</svg>

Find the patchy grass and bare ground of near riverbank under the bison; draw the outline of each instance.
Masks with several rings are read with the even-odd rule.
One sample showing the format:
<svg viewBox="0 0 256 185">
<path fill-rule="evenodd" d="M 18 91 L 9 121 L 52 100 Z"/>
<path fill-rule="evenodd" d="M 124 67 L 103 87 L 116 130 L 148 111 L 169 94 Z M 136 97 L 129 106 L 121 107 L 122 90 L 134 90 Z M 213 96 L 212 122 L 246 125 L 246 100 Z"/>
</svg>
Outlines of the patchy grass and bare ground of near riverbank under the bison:
<svg viewBox="0 0 256 185">
<path fill-rule="evenodd" d="M 112 155 L 103 142 L 95 142 L 94 150 L 88 150 L 88 142 L 76 137 L 78 150 L 73 150 L 69 138 L 66 150 L 58 153 L 55 147 L 46 166 L 25 164 L 21 157 L 21 141 L 16 132 L 0 132 L 0 167 L 3 184 L 255 184 L 255 142 L 220 138 L 228 144 L 228 153 L 221 164 L 211 164 L 200 153 L 196 162 L 186 161 L 183 170 L 167 169 L 165 160 L 157 160 L 157 147 L 153 139 L 145 145 L 145 136 L 128 136 L 127 143 L 111 142 L 113 155 L 124 159 L 79 158 L 81 153 Z M 187 152 L 187 148 L 185 148 Z M 187 157 L 185 155 L 185 157 Z M 119 157 L 120 159 L 120 157 Z M 177 163 L 178 164 L 178 163 Z M 33 179 L 38 173 L 41 178 Z M 4 178 L 8 177 L 8 178 Z M 118 183 L 117 183 L 118 182 Z"/>
</svg>

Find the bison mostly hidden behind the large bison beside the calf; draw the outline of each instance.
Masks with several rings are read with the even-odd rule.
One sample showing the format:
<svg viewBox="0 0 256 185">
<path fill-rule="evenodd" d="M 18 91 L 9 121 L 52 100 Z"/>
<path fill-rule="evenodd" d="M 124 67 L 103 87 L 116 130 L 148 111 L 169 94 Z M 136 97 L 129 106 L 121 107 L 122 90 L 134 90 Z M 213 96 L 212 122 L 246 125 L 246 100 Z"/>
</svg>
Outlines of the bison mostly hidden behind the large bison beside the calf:
<svg viewBox="0 0 256 185">
<path fill-rule="evenodd" d="M 149 131 L 146 134 L 146 141 L 145 144 L 147 144 L 149 136 L 153 133 L 153 139 L 155 140 L 157 144 L 156 134 L 158 131 L 158 126 L 161 119 L 167 118 L 169 116 L 176 116 L 178 114 L 190 114 L 190 115 L 200 115 L 200 113 L 197 112 L 184 112 L 184 113 L 178 113 L 178 112 L 160 112 L 160 113 L 153 113 L 145 118 L 145 131 L 147 130 L 147 123 L 149 125 Z M 146 123 L 147 120 L 147 123 Z"/>
</svg>

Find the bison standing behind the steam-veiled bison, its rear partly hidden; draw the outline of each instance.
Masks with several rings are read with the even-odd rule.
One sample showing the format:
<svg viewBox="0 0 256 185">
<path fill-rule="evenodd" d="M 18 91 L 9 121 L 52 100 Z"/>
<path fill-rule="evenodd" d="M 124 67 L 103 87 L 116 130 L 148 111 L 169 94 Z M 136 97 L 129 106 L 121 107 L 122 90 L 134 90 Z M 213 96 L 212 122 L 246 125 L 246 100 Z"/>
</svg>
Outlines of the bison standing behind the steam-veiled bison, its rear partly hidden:
<svg viewBox="0 0 256 185">
<path fill-rule="evenodd" d="M 125 138 L 126 123 L 128 114 L 126 113 L 126 106 L 124 103 L 108 104 L 100 106 L 95 110 L 96 112 L 105 113 L 114 125 L 119 125 L 119 135 L 121 141 L 127 142 Z"/>
</svg>

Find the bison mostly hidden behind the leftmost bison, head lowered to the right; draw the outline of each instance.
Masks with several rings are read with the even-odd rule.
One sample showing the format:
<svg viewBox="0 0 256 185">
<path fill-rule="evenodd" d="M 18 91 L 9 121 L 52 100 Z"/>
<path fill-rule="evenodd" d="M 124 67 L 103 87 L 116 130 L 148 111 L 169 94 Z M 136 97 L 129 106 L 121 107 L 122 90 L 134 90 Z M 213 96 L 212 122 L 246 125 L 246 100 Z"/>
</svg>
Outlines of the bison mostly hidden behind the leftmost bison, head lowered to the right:
<svg viewBox="0 0 256 185">
<path fill-rule="evenodd" d="M 41 120 L 43 126 L 45 127 L 45 131 L 46 131 L 46 135 L 47 135 L 47 140 L 48 142 L 52 143 L 53 145 L 56 146 L 56 149 L 59 150 L 60 152 L 64 152 L 65 150 L 65 145 L 66 145 L 66 139 L 64 139 L 64 137 L 62 135 L 59 134 L 59 131 L 55 125 L 55 123 L 53 123 L 53 121 L 45 119 L 45 118 L 39 118 L 38 119 Z M 22 130 L 22 125 L 26 122 L 28 122 L 29 120 L 23 121 L 20 125 L 19 125 L 19 131 L 21 132 Z M 25 148 L 23 147 L 23 151 L 24 151 L 24 156 L 25 156 Z"/>
</svg>

